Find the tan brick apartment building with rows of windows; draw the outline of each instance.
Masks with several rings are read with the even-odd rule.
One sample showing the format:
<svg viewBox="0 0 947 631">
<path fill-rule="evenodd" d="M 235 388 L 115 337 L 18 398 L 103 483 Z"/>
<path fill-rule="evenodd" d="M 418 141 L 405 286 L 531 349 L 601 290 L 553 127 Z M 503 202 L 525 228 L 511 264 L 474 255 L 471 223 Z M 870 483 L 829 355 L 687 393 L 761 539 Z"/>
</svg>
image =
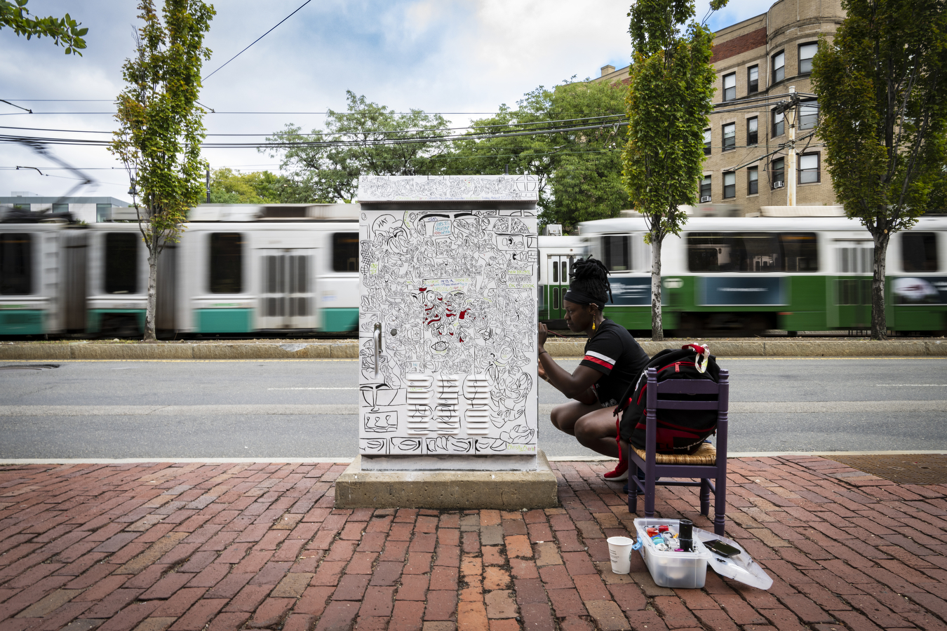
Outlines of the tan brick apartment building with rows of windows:
<svg viewBox="0 0 947 631">
<path fill-rule="evenodd" d="M 779 0 L 715 33 L 717 92 L 705 131 L 702 204 L 733 204 L 753 215 L 762 206 L 835 203 L 824 148 L 813 134 L 818 104 L 810 75 L 819 35 L 831 37 L 844 17 L 839 0 Z M 607 65 L 593 80 L 627 77 L 627 66 Z M 779 106 L 794 93 L 797 104 L 783 112 Z"/>
</svg>

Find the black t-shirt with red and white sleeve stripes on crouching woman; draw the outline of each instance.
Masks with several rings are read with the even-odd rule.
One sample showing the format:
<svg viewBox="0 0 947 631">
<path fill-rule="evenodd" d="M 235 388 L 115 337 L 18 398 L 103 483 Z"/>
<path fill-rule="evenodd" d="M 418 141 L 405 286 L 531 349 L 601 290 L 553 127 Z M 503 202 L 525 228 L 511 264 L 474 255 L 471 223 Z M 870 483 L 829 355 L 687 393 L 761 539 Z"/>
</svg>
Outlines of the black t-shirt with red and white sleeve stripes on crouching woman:
<svg viewBox="0 0 947 631">
<path fill-rule="evenodd" d="M 637 379 L 651 358 L 624 326 L 603 320 L 595 335 L 585 342 L 585 357 L 580 365 L 602 374 L 592 386 L 599 403 L 617 405 L 618 399 Z"/>
</svg>

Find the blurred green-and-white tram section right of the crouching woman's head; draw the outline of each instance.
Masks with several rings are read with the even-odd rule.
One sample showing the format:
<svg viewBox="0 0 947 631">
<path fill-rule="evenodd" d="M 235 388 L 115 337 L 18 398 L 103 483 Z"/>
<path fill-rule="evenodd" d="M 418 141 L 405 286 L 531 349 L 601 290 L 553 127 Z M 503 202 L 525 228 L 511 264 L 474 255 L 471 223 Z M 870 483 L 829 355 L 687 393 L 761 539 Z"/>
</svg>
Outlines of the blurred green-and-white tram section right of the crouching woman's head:
<svg viewBox="0 0 947 631">
<path fill-rule="evenodd" d="M 801 210 L 801 209 L 800 209 Z M 580 224 L 612 272 L 609 318 L 651 329 L 651 246 L 643 218 Z M 845 217 L 690 217 L 661 251 L 662 324 L 678 337 L 871 327 L 873 242 Z M 947 217 L 895 234 L 885 262 L 888 329 L 947 330 Z"/>
</svg>

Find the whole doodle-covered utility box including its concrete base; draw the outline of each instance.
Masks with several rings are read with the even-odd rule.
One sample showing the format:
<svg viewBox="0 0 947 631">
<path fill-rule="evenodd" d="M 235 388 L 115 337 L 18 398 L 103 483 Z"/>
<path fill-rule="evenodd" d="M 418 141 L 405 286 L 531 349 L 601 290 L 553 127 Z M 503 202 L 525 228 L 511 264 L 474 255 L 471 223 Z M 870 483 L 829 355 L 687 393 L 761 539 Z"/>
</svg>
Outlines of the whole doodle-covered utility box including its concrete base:
<svg viewBox="0 0 947 631">
<path fill-rule="evenodd" d="M 537 442 L 536 178 L 369 176 L 358 201 L 359 458 L 336 505 L 555 505 Z"/>
</svg>

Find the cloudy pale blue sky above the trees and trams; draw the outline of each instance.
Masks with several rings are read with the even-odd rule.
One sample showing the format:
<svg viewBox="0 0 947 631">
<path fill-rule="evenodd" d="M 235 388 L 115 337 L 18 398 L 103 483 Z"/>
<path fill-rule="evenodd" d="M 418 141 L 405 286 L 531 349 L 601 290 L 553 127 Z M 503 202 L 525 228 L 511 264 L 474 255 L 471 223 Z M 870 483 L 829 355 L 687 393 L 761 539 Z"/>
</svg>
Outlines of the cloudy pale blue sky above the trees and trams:
<svg viewBox="0 0 947 631">
<path fill-rule="evenodd" d="M 396 112 L 441 113 L 455 126 L 515 107 L 540 85 L 599 76 L 628 64 L 627 0 L 218 0 L 205 37 L 200 102 L 208 134 L 265 134 L 294 124 L 323 127 L 328 108 L 345 110 L 346 91 Z M 157 0 L 161 4 L 161 0 Z M 698 0 L 697 14 L 708 0 Z M 48 38 L 29 41 L 0 29 L 0 135 L 109 139 L 123 88 L 122 63 L 140 26 L 131 0 L 30 0 L 40 16 L 69 13 L 89 29 L 82 57 Z M 730 0 L 708 20 L 719 29 L 769 8 Z M 207 77 L 299 9 L 237 59 Z M 40 129 L 13 129 L 40 128 Z M 75 130 L 81 133 L 41 130 Z M 96 133 L 98 132 L 98 133 Z M 208 135 L 208 140 L 252 136 Z M 130 202 L 129 180 L 105 148 L 53 147 L 53 156 L 0 142 L 0 197 L 71 193 Z M 211 168 L 278 172 L 279 158 L 257 149 L 205 149 Z M 94 180 L 60 163 L 76 167 Z M 16 167 L 21 167 L 16 169 Z M 25 168 L 27 167 L 27 168 Z"/>
</svg>

